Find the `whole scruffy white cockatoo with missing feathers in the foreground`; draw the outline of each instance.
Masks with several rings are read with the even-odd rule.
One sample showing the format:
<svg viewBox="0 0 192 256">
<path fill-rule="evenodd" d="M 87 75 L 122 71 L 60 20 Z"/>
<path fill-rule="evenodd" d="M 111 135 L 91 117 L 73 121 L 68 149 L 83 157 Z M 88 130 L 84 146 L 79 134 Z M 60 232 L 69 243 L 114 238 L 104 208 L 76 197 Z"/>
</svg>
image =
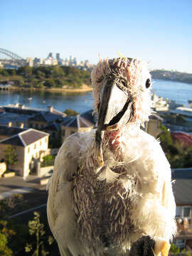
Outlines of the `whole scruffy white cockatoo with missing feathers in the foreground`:
<svg viewBox="0 0 192 256">
<path fill-rule="evenodd" d="M 171 169 L 140 129 L 151 114 L 147 65 L 100 60 L 91 78 L 97 128 L 65 139 L 48 188 L 60 255 L 168 255 L 176 233 Z"/>
</svg>

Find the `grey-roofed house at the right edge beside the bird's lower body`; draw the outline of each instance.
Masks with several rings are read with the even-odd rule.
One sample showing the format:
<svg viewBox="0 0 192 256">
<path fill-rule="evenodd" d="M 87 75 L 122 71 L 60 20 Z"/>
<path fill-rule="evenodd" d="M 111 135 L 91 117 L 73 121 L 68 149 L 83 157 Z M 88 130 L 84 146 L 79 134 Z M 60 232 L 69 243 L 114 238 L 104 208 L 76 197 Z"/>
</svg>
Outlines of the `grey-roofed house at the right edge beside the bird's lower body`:
<svg viewBox="0 0 192 256">
<path fill-rule="evenodd" d="M 173 191 L 176 201 L 178 233 L 174 242 L 178 247 L 192 250 L 192 168 L 172 169 Z"/>
</svg>

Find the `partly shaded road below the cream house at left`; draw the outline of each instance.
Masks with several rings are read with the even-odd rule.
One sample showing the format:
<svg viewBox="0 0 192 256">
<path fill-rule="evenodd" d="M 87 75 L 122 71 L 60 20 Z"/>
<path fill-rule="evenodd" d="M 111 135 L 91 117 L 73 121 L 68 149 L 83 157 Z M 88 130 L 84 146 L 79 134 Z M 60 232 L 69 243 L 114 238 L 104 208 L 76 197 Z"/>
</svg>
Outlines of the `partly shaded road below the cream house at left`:
<svg viewBox="0 0 192 256">
<path fill-rule="evenodd" d="M 46 185 L 41 185 L 37 176 L 28 176 L 25 179 L 20 176 L 0 178 L 0 201 L 6 199 L 9 204 L 10 196 L 16 193 L 22 194 L 23 198 L 16 202 L 16 206 L 1 213 L 3 218 L 16 218 L 27 223 L 28 219 L 33 218 L 35 210 L 46 212 L 48 192 Z"/>
</svg>

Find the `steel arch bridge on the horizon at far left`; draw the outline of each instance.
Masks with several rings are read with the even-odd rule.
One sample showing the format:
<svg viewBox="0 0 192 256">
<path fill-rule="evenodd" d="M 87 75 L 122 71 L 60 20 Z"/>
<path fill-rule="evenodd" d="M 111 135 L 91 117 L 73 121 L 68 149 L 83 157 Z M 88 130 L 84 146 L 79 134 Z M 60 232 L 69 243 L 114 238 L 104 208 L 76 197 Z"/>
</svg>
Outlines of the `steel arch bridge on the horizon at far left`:
<svg viewBox="0 0 192 256">
<path fill-rule="evenodd" d="M 13 53 L 10 50 L 6 50 L 3 48 L 0 48 L 0 62 L 3 65 L 9 64 L 9 65 L 16 65 L 17 67 L 26 65 L 25 59 L 18 56 L 16 53 Z"/>
</svg>

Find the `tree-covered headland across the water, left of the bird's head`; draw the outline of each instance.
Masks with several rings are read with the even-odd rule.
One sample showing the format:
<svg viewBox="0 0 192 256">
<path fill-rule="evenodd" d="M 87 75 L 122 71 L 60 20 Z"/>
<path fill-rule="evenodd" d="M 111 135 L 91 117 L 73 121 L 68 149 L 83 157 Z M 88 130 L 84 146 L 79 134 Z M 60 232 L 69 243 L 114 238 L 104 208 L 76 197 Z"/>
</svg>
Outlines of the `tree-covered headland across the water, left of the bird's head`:
<svg viewBox="0 0 192 256">
<path fill-rule="evenodd" d="M 0 69 L 0 81 L 11 80 L 17 87 L 29 88 L 80 88 L 91 85 L 90 72 L 68 66 L 24 66 L 18 70 Z"/>
</svg>

